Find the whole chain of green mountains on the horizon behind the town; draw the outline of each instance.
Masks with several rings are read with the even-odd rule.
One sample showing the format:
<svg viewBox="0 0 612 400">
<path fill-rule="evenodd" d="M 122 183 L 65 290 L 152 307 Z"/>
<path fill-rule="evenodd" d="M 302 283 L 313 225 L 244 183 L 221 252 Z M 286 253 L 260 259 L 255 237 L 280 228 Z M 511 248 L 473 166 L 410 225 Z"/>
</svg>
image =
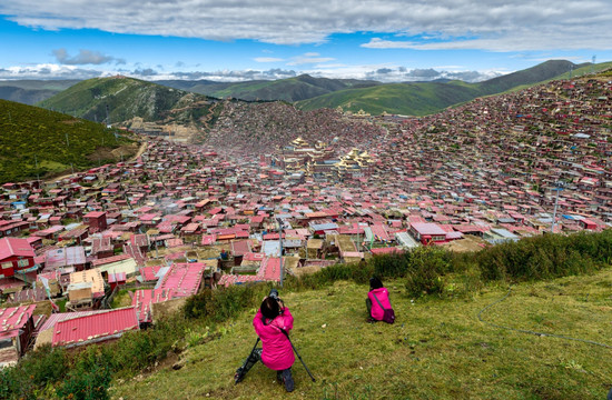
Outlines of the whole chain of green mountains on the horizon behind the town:
<svg viewBox="0 0 612 400">
<path fill-rule="evenodd" d="M 223 108 L 219 99 L 247 101 L 295 102 L 302 110 L 318 108 L 345 111 L 364 110 L 372 114 L 383 112 L 425 116 L 477 97 L 536 84 L 571 71 L 588 73 L 612 67 L 612 63 L 576 66 L 565 60 L 551 60 L 539 66 L 478 83 L 463 81 L 430 81 L 412 83 L 381 83 L 351 79 L 314 78 L 303 74 L 276 81 L 220 83 L 213 81 L 157 81 L 134 78 L 95 78 L 81 81 L 40 107 L 66 112 L 92 121 L 125 122 L 132 118 L 158 123 L 210 128 Z M 162 86 L 162 83 L 168 86 Z M 209 94 L 199 94 L 199 90 Z M 214 97 L 217 98 L 214 98 Z M 108 112 L 108 119 L 107 119 Z"/>
</svg>

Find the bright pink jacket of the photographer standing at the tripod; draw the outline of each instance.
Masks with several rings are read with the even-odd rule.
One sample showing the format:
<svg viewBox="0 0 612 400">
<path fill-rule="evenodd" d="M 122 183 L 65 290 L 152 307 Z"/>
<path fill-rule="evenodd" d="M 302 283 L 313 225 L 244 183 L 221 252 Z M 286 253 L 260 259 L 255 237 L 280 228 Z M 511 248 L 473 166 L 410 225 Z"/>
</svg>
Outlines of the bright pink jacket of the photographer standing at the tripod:
<svg viewBox="0 0 612 400">
<path fill-rule="evenodd" d="M 267 322 L 267 321 L 266 321 Z M 253 319 L 255 332 L 261 339 L 263 352 L 261 362 L 269 369 L 280 371 L 294 364 L 295 356 L 289 340 L 283 334 L 279 328 L 287 333 L 294 327 L 294 317 L 285 307 L 285 312 L 276 317 L 272 322 L 264 324 L 261 310 Z"/>
</svg>

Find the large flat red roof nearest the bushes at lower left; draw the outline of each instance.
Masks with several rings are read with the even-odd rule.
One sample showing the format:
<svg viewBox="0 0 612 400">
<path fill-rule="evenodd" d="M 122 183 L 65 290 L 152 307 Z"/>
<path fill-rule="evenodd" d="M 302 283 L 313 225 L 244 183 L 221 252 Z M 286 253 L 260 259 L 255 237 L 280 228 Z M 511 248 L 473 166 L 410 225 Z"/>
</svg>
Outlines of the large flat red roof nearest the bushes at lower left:
<svg viewBox="0 0 612 400">
<path fill-rule="evenodd" d="M 125 331 L 138 330 L 138 327 L 134 307 L 83 316 L 56 323 L 52 346 L 72 347 L 102 341 Z"/>
</svg>

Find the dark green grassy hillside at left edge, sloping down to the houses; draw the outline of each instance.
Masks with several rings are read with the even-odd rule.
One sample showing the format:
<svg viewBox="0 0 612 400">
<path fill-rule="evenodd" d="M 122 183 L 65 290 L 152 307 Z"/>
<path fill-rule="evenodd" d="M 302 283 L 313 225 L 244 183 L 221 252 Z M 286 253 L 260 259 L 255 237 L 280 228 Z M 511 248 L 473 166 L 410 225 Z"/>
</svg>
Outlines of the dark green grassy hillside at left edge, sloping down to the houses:
<svg viewBox="0 0 612 400">
<path fill-rule="evenodd" d="M 43 178 L 70 170 L 70 164 L 89 168 L 135 152 L 131 140 L 100 123 L 7 100 L 0 100 L 0 183 Z"/>
</svg>

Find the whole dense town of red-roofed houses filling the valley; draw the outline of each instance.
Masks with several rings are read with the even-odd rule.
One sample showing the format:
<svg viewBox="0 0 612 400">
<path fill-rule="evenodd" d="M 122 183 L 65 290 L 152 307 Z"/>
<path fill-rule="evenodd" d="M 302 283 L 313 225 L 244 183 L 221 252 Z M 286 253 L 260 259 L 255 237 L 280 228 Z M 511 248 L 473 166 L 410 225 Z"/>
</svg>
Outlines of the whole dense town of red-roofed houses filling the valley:
<svg viewBox="0 0 612 400">
<path fill-rule="evenodd" d="M 150 137 L 128 162 L 4 183 L 0 364 L 32 346 L 113 340 L 204 288 L 417 246 L 608 229 L 611 94 L 591 79 L 426 118 L 328 110 L 318 141 L 300 133 L 312 121 L 265 103 L 293 116 L 265 147 L 245 133 L 265 121 L 237 103 L 208 144 Z"/>
</svg>

